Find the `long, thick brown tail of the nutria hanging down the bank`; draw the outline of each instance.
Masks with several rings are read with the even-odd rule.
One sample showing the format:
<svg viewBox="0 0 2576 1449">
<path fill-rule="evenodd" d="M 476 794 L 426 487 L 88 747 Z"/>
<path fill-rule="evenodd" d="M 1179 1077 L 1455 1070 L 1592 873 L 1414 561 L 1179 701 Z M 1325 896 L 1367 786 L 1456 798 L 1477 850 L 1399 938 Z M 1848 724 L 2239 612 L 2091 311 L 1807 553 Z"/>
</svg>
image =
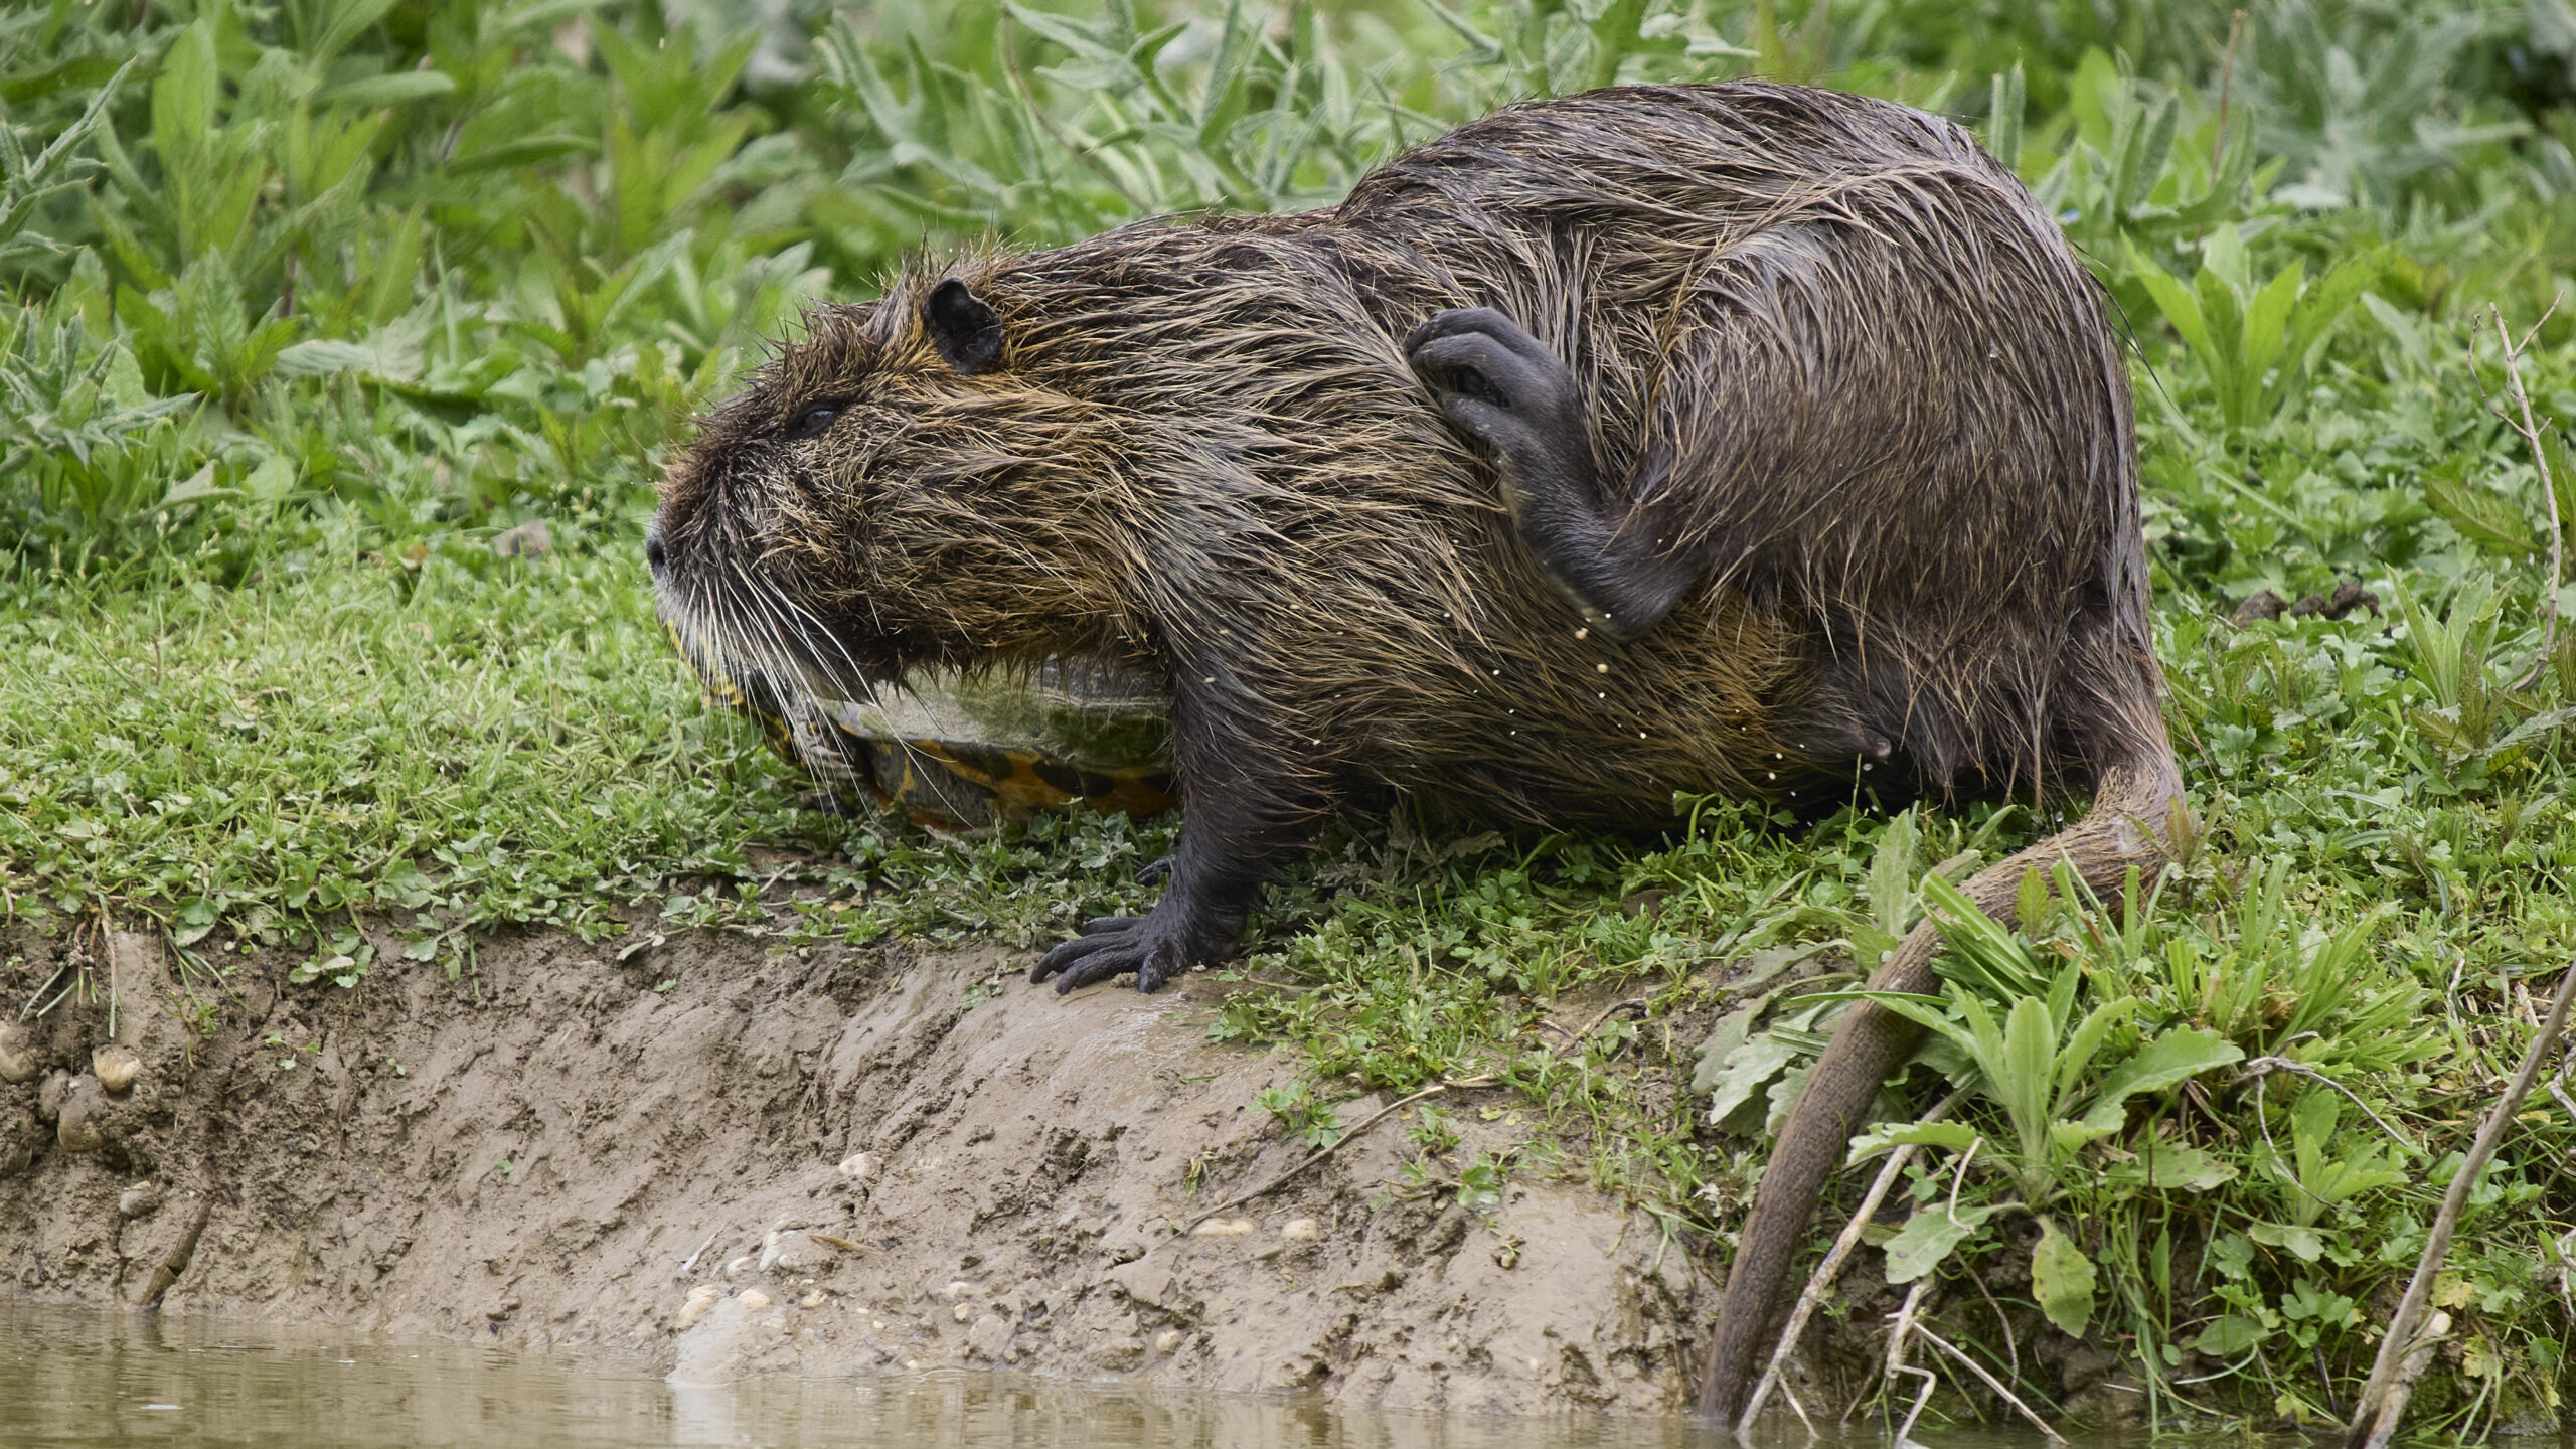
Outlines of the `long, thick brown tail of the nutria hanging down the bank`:
<svg viewBox="0 0 2576 1449">
<path fill-rule="evenodd" d="M 2032 869 L 2053 871 L 2071 861 L 2097 892 L 2115 890 L 2130 866 L 2154 869 L 2164 859 L 2166 828 L 2182 799 L 2182 771 L 2164 730 L 2136 730 L 2138 743 L 2107 766 L 2094 789 L 2092 812 L 2027 851 L 2020 851 L 1968 879 L 1968 900 L 1989 915 L 2002 915 Z M 1940 931 L 1924 920 L 1888 951 L 1870 990 L 1932 993 L 1932 951 Z M 1788 1279 L 1806 1222 L 1824 1191 L 1824 1178 L 1842 1163 L 1860 1116 L 1878 1096 L 1878 1083 L 1906 1060 L 1922 1026 L 1873 1003 L 1857 1003 L 1842 1018 L 1832 1044 L 1798 1093 L 1798 1106 L 1780 1129 L 1754 1212 L 1736 1245 L 1736 1266 L 1726 1276 L 1718 1305 L 1718 1336 L 1700 1385 L 1700 1413 L 1728 1423 L 1744 1408 L 1762 1361 L 1762 1330 L 1770 1328 L 1780 1284 Z"/>
</svg>

